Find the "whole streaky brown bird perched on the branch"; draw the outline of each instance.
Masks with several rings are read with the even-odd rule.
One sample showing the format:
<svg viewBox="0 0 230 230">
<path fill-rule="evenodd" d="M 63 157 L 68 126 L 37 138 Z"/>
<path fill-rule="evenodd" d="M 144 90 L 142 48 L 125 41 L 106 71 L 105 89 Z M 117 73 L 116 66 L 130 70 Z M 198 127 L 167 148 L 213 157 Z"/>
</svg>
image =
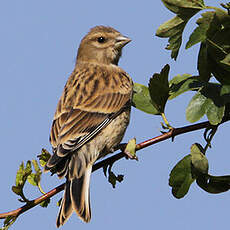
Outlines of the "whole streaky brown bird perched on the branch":
<svg viewBox="0 0 230 230">
<path fill-rule="evenodd" d="M 92 166 L 119 146 L 129 124 L 133 81 L 118 61 L 130 41 L 108 26 L 93 27 L 81 40 L 54 115 L 53 154 L 44 168 L 66 178 L 57 227 L 73 212 L 90 221 Z"/>
</svg>

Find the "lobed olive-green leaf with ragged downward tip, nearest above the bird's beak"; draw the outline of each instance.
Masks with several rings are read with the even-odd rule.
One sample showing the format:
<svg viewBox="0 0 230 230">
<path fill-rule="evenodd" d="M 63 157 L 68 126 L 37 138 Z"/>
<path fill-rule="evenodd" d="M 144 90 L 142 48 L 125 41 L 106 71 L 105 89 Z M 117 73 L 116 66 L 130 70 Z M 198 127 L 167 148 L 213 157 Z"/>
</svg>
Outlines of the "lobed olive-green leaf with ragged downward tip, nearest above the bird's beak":
<svg viewBox="0 0 230 230">
<path fill-rule="evenodd" d="M 175 16 L 174 18 L 160 25 L 156 31 L 156 36 L 169 38 L 169 44 L 167 45 L 166 49 L 172 50 L 172 59 L 176 60 L 178 56 L 179 49 L 182 43 L 182 33 L 187 22 L 188 20 L 184 20 L 178 16 Z"/>
</svg>

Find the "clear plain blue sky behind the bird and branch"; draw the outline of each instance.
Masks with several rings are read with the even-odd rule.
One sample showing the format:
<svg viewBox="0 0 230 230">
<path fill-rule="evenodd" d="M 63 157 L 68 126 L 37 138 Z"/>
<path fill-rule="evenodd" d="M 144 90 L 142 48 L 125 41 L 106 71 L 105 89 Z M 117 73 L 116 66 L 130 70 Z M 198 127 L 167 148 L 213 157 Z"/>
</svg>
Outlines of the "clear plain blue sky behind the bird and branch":
<svg viewBox="0 0 230 230">
<path fill-rule="evenodd" d="M 217 5 L 219 1 L 206 1 Z M 21 161 L 35 159 L 41 148 L 51 151 L 49 131 L 64 84 L 74 68 L 81 38 L 95 25 L 109 25 L 132 39 L 123 51 L 120 66 L 134 82 L 147 84 L 154 72 L 169 63 L 170 76 L 197 74 L 198 46 L 182 50 L 177 62 L 164 50 L 166 39 L 154 36 L 157 27 L 173 15 L 158 1 L 60 1 L 9 0 L 0 2 L 0 113 L 1 198 L 0 212 L 21 206 L 11 192 Z M 195 26 L 189 23 L 186 33 Z M 166 115 L 174 127 L 188 125 L 185 109 L 193 93 L 170 101 Z M 204 118 L 203 120 L 206 120 Z M 132 110 L 124 141 L 137 142 L 160 135 L 160 117 Z M 210 173 L 230 174 L 229 124 L 221 126 L 208 151 Z M 202 131 L 179 136 L 138 152 L 139 161 L 121 160 L 113 170 L 124 174 L 116 189 L 102 170 L 92 175 L 92 221 L 82 223 L 76 215 L 62 227 L 68 229 L 217 229 L 229 225 L 229 192 L 210 195 L 193 184 L 189 194 L 177 200 L 168 186 L 170 170 L 189 153 L 195 142 L 204 144 Z M 49 191 L 62 183 L 46 174 L 42 186 Z M 31 199 L 40 196 L 26 186 Z M 47 209 L 26 212 L 11 229 L 56 229 L 56 195 Z"/>
</svg>

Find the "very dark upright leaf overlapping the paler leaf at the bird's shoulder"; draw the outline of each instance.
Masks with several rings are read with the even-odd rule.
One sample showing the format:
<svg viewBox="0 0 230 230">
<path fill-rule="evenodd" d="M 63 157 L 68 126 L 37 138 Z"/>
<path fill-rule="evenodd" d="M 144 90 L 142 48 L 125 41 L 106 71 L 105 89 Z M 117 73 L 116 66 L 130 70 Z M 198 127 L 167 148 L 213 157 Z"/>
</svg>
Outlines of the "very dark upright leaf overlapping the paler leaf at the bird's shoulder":
<svg viewBox="0 0 230 230">
<path fill-rule="evenodd" d="M 160 74 L 155 73 L 149 81 L 149 92 L 152 104 L 159 113 L 164 113 L 165 104 L 169 98 L 169 65 L 165 65 Z"/>
</svg>

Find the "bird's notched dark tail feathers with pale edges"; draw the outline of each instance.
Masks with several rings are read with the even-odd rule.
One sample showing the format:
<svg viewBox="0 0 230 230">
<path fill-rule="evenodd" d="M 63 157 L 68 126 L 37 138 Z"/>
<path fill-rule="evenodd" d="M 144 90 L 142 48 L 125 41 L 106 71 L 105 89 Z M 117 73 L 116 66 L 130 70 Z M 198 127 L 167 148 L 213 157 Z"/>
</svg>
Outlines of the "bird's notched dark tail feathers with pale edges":
<svg viewBox="0 0 230 230">
<path fill-rule="evenodd" d="M 88 165 L 80 178 L 67 179 L 56 225 L 60 227 L 73 211 L 85 222 L 91 219 L 89 183 L 92 165 Z"/>
</svg>

